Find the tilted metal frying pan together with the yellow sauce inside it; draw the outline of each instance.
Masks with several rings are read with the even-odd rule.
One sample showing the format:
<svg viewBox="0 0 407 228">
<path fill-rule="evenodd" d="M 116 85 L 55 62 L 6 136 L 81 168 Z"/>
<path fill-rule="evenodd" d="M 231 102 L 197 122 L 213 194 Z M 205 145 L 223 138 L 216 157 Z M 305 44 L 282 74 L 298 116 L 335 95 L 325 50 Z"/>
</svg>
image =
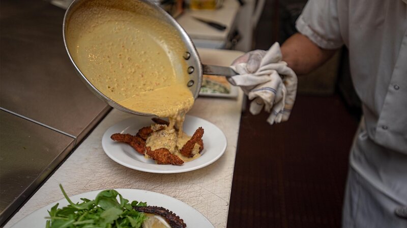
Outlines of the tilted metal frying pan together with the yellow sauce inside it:
<svg viewBox="0 0 407 228">
<path fill-rule="evenodd" d="M 182 27 L 144 0 L 73 1 L 63 32 L 84 83 L 112 107 L 136 115 L 183 119 L 202 74 L 237 74 L 202 65 Z"/>
</svg>

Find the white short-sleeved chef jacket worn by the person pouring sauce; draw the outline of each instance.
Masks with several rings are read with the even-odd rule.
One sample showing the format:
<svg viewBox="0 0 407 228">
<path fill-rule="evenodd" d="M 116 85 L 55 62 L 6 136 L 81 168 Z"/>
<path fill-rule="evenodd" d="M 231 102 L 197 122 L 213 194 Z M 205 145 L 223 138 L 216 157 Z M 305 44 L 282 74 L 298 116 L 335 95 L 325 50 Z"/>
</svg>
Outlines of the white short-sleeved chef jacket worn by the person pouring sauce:
<svg viewBox="0 0 407 228">
<path fill-rule="evenodd" d="M 407 205 L 407 4 L 402 0 L 310 0 L 297 29 L 324 49 L 350 53 L 364 120 L 350 165 Z"/>
</svg>

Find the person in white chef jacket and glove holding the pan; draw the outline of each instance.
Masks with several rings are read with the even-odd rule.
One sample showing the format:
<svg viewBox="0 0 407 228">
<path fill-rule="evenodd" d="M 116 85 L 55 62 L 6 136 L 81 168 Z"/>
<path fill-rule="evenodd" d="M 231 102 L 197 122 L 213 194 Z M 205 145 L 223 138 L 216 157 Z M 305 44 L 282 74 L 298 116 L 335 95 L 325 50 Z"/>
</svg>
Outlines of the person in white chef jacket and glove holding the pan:
<svg viewBox="0 0 407 228">
<path fill-rule="evenodd" d="M 407 0 L 310 0 L 296 27 L 299 33 L 281 46 L 281 62 L 306 74 L 345 45 L 362 101 L 343 227 L 407 227 Z M 257 75 L 267 53 L 246 53 L 233 65 L 245 64 L 247 74 Z"/>
</svg>

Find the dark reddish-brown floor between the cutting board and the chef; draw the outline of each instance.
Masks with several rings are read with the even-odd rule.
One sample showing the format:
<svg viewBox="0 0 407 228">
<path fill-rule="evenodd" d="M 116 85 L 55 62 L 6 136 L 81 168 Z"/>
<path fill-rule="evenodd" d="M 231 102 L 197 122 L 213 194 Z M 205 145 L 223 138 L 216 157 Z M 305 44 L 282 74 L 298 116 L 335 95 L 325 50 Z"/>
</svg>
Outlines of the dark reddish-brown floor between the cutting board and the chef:
<svg viewBox="0 0 407 228">
<path fill-rule="evenodd" d="M 338 95 L 297 96 L 288 122 L 242 115 L 227 227 L 340 227 L 358 121 Z"/>
</svg>

